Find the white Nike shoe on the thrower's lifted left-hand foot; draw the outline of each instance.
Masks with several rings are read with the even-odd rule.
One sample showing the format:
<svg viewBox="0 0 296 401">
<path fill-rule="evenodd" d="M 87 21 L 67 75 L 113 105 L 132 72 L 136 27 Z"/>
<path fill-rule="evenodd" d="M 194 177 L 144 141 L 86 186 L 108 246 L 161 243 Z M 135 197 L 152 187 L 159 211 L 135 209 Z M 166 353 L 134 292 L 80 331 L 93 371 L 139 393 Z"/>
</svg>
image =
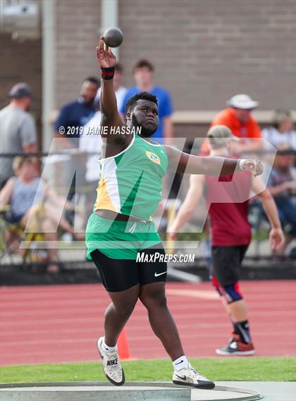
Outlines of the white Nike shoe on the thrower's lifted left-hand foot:
<svg viewBox="0 0 296 401">
<path fill-rule="evenodd" d="M 114 385 L 123 385 L 125 382 L 124 371 L 121 367 L 117 351 L 108 352 L 102 346 L 104 337 L 99 338 L 97 342 L 99 354 L 103 364 L 103 370 L 106 378 Z"/>
</svg>

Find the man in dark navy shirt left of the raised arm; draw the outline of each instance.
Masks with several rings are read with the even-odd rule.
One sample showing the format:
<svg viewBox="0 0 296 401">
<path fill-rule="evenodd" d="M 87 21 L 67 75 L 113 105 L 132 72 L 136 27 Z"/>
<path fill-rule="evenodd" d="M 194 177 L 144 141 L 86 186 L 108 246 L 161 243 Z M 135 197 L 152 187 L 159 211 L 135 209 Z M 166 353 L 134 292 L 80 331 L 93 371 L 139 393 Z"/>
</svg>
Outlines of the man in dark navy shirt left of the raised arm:
<svg viewBox="0 0 296 401">
<path fill-rule="evenodd" d="M 63 148 L 78 147 L 79 128 L 83 127 L 96 111 L 95 97 L 99 89 L 99 80 L 85 78 L 82 82 L 80 97 L 61 108 L 55 124 L 56 136 L 63 138 Z"/>
</svg>

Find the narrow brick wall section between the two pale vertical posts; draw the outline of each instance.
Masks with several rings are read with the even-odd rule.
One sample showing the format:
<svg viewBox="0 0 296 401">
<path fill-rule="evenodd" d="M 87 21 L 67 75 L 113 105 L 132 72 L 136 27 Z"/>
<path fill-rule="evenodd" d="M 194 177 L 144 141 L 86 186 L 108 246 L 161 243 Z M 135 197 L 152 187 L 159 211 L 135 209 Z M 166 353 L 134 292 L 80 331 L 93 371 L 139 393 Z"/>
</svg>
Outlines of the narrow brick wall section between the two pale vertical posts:
<svg viewBox="0 0 296 401">
<path fill-rule="evenodd" d="M 101 1 L 56 1 L 56 107 L 78 97 L 82 80 L 98 75 Z"/>
</svg>

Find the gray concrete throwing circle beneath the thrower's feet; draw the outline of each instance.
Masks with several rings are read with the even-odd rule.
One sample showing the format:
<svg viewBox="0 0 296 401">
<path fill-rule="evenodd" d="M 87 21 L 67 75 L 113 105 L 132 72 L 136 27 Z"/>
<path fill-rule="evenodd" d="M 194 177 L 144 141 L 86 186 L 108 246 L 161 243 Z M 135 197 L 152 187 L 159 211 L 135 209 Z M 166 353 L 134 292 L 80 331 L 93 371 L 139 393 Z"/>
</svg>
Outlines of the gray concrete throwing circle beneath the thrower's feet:
<svg viewBox="0 0 296 401">
<path fill-rule="evenodd" d="M 254 388 L 216 386 L 215 390 L 194 390 L 172 383 L 125 383 L 115 387 L 105 382 L 24 383 L 0 388 L 1 401 L 242 401 L 259 400 Z"/>
</svg>

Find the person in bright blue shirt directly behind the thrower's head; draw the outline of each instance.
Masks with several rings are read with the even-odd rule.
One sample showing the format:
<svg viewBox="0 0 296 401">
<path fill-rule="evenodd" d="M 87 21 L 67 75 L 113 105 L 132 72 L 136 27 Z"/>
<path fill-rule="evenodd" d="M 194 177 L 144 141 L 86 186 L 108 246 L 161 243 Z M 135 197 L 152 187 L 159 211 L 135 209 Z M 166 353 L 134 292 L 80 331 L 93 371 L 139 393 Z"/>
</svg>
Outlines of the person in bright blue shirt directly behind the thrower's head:
<svg viewBox="0 0 296 401">
<path fill-rule="evenodd" d="M 123 99 L 123 105 L 121 106 L 120 112 L 125 115 L 125 104 L 132 96 L 139 92 L 149 92 L 154 94 L 158 99 L 159 105 L 159 127 L 152 136 L 161 144 L 171 143 L 170 138 L 173 137 L 173 123 L 171 115 L 173 113 L 173 106 L 171 96 L 167 90 L 162 87 L 158 87 L 153 83 L 154 66 L 147 60 L 137 61 L 133 68 L 133 74 L 136 82 L 135 87 L 128 89 Z"/>
</svg>

